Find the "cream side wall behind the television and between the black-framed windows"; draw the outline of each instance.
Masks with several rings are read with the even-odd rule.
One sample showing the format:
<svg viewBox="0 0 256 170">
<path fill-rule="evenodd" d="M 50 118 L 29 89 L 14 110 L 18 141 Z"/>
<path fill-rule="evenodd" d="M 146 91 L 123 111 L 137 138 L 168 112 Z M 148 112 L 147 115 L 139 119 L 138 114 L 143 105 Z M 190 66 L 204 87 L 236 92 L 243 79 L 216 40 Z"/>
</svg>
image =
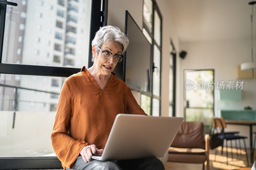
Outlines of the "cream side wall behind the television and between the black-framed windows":
<svg viewBox="0 0 256 170">
<path fill-rule="evenodd" d="M 179 49 L 179 40 L 172 22 L 172 16 L 170 14 L 169 3 L 164 0 L 156 1 L 160 12 L 163 17 L 162 21 L 162 75 L 161 75 L 161 115 L 168 116 L 169 108 L 169 56 L 170 56 L 170 38 L 172 38 L 176 50 Z M 124 31 L 124 17 L 125 10 L 128 10 L 135 22 L 142 29 L 143 22 L 143 0 L 129 0 L 129 1 L 119 1 L 119 0 L 109 0 L 108 1 L 108 25 L 118 26 L 121 31 Z M 177 58 L 177 63 L 179 59 Z M 177 68 L 179 66 L 177 65 Z M 178 75 L 178 73 L 177 73 Z M 177 89 L 179 89 L 180 84 L 177 82 Z M 138 92 L 133 92 L 136 94 Z M 139 95 L 135 95 L 138 103 L 140 103 Z M 180 101 L 180 95 L 177 94 L 177 116 L 180 115 L 180 110 L 177 107 Z"/>
</svg>

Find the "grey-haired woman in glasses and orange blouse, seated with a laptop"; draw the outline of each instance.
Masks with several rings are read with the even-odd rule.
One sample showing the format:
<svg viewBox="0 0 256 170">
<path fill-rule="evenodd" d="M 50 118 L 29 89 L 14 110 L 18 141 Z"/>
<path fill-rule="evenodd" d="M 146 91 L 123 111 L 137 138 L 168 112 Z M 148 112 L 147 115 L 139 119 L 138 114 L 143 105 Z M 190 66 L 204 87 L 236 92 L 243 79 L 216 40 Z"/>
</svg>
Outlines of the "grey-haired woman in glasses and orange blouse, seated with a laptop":
<svg viewBox="0 0 256 170">
<path fill-rule="evenodd" d="M 129 40 L 114 26 L 104 26 L 92 40 L 93 66 L 68 77 L 61 89 L 52 130 L 52 146 L 65 169 L 164 169 L 156 158 L 99 161 L 118 113 L 147 115 L 130 88 L 112 71 Z"/>
</svg>

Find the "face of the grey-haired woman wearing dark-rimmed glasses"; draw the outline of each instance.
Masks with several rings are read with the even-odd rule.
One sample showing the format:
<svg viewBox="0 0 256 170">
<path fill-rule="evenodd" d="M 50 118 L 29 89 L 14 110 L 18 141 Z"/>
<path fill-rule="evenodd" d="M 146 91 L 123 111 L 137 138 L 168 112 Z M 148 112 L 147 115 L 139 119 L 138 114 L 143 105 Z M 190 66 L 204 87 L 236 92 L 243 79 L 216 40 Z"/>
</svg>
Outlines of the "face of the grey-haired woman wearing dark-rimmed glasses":
<svg viewBox="0 0 256 170">
<path fill-rule="evenodd" d="M 122 53 L 122 45 L 115 41 L 113 41 L 109 44 L 104 43 L 100 47 L 100 49 L 102 51 L 108 51 L 113 54 L 121 55 L 121 53 Z M 96 53 L 96 49 L 94 49 L 94 46 L 92 46 L 92 54 L 95 56 L 95 60 L 94 60 L 93 64 L 96 66 L 96 70 L 97 70 L 98 74 L 109 75 L 116 67 L 117 62 L 114 61 L 114 55 L 112 55 L 109 59 L 104 59 L 102 57 L 102 52 L 99 51 L 99 53 Z M 105 66 L 107 66 L 107 67 L 105 67 Z"/>
</svg>

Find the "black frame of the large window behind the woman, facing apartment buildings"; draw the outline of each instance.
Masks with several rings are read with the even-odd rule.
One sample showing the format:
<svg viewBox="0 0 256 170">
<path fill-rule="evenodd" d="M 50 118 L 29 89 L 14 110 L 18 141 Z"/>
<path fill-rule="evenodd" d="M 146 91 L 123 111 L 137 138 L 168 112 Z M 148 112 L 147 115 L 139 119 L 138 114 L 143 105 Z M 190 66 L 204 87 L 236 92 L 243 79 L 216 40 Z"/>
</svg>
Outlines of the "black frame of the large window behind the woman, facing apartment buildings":
<svg viewBox="0 0 256 170">
<path fill-rule="evenodd" d="M 6 1 L 6 0 L 4 0 Z M 0 76 L 1 74 L 17 74 L 17 75 L 35 75 L 35 76 L 52 76 L 52 77 L 69 77 L 78 73 L 81 68 L 71 67 L 54 67 L 54 66 L 38 66 L 16 63 L 2 63 L 4 26 L 6 16 L 6 4 L 14 5 L 16 3 L 0 1 Z M 19 5 L 19 4 L 18 4 Z M 21 4 L 20 4 L 21 5 Z M 101 11 L 101 5 L 103 8 Z M 16 4 L 17 6 L 17 4 Z M 108 0 L 92 0 L 91 11 L 91 27 L 90 42 L 94 38 L 95 33 L 101 26 L 107 25 L 107 9 Z M 91 43 L 88 52 L 88 66 L 91 59 Z M 62 168 L 61 162 L 57 157 L 1 157 L 0 169 L 46 169 L 46 168 Z"/>
</svg>

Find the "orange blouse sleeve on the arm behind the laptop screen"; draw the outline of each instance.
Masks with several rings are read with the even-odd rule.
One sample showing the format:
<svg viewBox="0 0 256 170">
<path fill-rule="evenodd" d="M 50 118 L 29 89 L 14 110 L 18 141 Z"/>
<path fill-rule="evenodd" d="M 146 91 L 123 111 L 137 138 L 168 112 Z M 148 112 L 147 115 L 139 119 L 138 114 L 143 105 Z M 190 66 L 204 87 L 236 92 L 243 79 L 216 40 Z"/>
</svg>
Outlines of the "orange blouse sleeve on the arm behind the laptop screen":
<svg viewBox="0 0 256 170">
<path fill-rule="evenodd" d="M 137 103 L 136 99 L 132 95 L 131 89 L 128 87 L 127 95 L 126 95 L 126 113 L 130 114 L 139 114 L 139 115 L 147 115 L 143 109 L 141 109 L 140 105 Z"/>
</svg>

